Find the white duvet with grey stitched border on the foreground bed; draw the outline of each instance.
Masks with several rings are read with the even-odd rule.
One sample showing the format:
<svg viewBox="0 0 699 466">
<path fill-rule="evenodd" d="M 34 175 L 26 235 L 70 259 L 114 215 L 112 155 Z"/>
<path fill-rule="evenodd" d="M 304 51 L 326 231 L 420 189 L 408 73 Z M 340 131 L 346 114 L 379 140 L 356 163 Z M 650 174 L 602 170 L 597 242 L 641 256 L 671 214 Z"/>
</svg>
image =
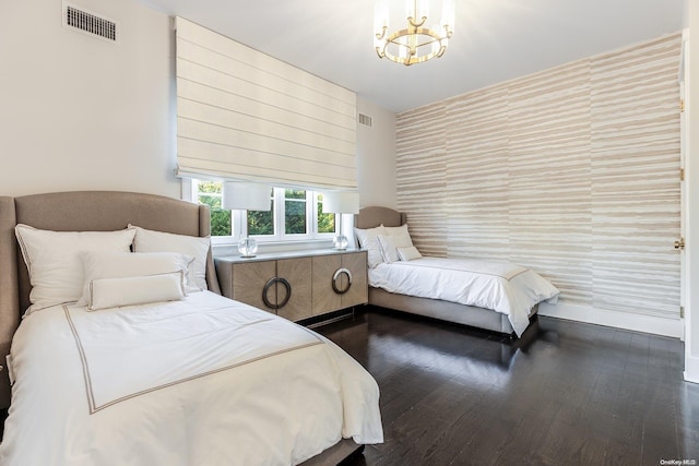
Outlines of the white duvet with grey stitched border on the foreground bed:
<svg viewBox="0 0 699 466">
<path fill-rule="evenodd" d="M 305 327 L 209 291 L 26 316 L 4 466 L 289 465 L 383 440 L 364 368 Z"/>
</svg>

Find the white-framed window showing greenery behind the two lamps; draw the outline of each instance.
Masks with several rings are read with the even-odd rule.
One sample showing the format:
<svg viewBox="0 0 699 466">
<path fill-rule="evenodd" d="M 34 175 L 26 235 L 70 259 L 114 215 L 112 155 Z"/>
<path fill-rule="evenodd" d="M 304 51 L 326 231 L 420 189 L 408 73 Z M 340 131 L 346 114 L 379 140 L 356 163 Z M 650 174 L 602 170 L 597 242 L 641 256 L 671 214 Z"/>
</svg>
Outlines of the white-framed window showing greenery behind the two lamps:
<svg viewBox="0 0 699 466">
<path fill-rule="evenodd" d="M 303 189 L 274 188 L 270 211 L 224 211 L 221 181 L 192 180 L 192 199 L 211 207 L 214 242 L 233 242 L 250 235 L 258 241 L 331 239 L 335 214 L 322 213 L 322 194 Z"/>
</svg>

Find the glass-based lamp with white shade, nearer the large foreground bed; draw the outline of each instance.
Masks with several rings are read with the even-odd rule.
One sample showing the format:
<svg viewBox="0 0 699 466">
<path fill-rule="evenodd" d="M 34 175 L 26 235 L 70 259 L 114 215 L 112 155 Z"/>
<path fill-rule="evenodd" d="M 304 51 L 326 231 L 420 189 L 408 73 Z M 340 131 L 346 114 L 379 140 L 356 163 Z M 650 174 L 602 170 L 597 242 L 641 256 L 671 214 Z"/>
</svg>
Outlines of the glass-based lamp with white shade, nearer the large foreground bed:
<svg viewBox="0 0 699 466">
<path fill-rule="evenodd" d="M 253 183 L 248 181 L 225 181 L 223 183 L 222 208 L 227 211 L 270 211 L 271 191 L 269 184 Z M 242 236 L 242 225 L 240 225 L 240 236 Z M 258 242 L 246 235 L 238 242 L 238 251 L 242 258 L 254 258 L 258 252 Z"/>
</svg>

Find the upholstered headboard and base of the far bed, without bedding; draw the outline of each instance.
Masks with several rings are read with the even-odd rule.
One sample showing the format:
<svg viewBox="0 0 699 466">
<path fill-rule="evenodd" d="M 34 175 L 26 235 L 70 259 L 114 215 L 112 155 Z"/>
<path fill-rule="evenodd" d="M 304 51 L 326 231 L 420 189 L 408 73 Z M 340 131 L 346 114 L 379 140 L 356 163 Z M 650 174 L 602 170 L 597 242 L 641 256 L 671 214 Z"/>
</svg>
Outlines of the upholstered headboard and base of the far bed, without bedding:
<svg viewBox="0 0 699 466">
<path fill-rule="evenodd" d="M 380 225 L 384 227 L 399 227 L 405 224 L 406 216 L 404 213 L 388 207 L 364 207 L 355 215 L 355 227 L 360 229 L 376 228 Z M 374 286 L 369 286 L 369 303 L 386 309 L 399 310 L 513 335 L 512 324 L 508 315 L 495 312 L 491 309 L 466 306 L 442 299 L 389 292 L 381 287 Z M 530 319 L 536 314 L 538 304 L 530 309 Z"/>
</svg>

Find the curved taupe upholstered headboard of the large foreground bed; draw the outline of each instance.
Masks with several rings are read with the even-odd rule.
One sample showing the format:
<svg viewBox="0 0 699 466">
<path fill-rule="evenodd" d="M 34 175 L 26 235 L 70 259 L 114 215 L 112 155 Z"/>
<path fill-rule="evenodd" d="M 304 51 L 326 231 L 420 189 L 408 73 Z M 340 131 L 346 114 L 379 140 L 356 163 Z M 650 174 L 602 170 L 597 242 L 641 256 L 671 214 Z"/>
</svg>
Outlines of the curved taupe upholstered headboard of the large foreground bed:
<svg viewBox="0 0 699 466">
<path fill-rule="evenodd" d="M 29 277 L 14 236 L 16 224 L 56 231 L 108 231 L 133 224 L 178 235 L 204 237 L 211 232 L 209 206 L 161 195 L 73 191 L 0 196 L 0 357 L 10 353 L 20 315 L 29 304 Z M 211 250 L 206 283 L 210 290 L 221 294 Z M 0 371 L 0 407 L 9 405 L 10 384 L 7 368 L 3 368 Z"/>
</svg>

